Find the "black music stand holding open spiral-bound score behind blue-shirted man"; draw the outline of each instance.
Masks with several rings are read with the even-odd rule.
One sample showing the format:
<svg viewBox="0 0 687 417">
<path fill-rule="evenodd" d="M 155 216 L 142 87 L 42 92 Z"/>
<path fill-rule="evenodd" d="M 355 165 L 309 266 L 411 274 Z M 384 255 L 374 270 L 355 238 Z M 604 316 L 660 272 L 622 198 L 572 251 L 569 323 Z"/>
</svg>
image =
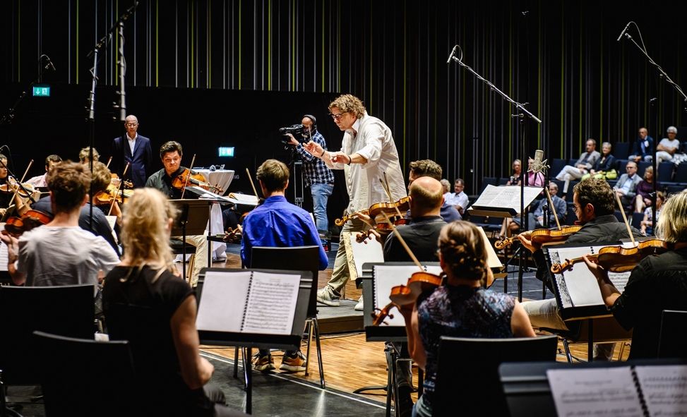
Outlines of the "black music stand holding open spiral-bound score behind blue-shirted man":
<svg viewBox="0 0 687 417">
<path fill-rule="evenodd" d="M 247 358 L 244 358 L 244 369 L 246 375 L 246 413 L 252 413 L 253 405 L 253 378 L 251 377 L 251 356 L 253 356 L 253 348 L 258 349 L 280 349 L 280 350 L 296 350 L 301 346 L 301 339 L 303 338 L 303 330 L 305 328 L 305 320 L 308 313 L 308 301 L 312 288 L 312 272 L 311 271 L 287 271 L 287 270 L 261 270 L 251 268 L 248 270 L 237 268 L 203 268 L 198 277 L 198 286 L 196 287 L 196 297 L 198 298 L 198 308 L 203 302 L 203 283 L 205 282 L 205 274 L 210 272 L 222 272 L 227 274 L 227 279 L 232 279 L 232 273 L 236 272 L 268 272 L 273 274 L 299 274 L 301 281 L 298 288 L 298 301 L 296 303 L 296 310 L 294 313 L 293 326 L 291 334 L 258 334 L 258 333 L 241 333 L 241 332 L 213 332 L 208 330 L 198 329 L 198 337 L 201 339 L 201 344 L 210 344 L 214 346 L 240 346 L 245 347 L 248 351 Z"/>
</svg>

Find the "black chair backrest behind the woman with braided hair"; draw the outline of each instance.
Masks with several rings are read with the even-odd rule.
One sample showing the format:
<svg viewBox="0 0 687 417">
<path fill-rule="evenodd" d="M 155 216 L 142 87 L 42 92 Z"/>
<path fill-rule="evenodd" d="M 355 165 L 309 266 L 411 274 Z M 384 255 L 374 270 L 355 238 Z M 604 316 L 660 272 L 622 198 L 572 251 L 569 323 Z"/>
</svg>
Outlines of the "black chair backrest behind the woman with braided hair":
<svg viewBox="0 0 687 417">
<path fill-rule="evenodd" d="M 557 346 L 556 336 L 510 339 L 442 336 L 432 404 L 434 416 L 454 416 L 457 404 L 465 416 L 507 416 L 498 365 L 554 362 Z"/>
</svg>

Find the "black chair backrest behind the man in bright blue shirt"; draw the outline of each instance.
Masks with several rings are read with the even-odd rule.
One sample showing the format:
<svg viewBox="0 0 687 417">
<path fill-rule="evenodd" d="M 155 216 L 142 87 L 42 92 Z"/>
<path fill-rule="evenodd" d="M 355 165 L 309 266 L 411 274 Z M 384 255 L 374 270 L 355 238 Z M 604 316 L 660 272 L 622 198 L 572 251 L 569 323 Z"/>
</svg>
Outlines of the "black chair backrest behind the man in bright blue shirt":
<svg viewBox="0 0 687 417">
<path fill-rule="evenodd" d="M 294 246 L 292 248 L 254 246 L 251 252 L 250 267 L 269 270 L 311 271 L 313 283 L 308 298 L 308 317 L 317 315 L 317 277 L 320 270 L 320 248 L 318 246 Z"/>
</svg>

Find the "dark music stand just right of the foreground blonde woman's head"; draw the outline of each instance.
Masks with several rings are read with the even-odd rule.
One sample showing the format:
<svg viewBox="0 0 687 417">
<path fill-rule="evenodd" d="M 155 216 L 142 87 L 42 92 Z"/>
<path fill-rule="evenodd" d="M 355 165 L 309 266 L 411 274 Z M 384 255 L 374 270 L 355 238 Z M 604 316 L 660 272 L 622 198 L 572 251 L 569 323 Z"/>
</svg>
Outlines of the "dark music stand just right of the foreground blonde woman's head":
<svg viewBox="0 0 687 417">
<path fill-rule="evenodd" d="M 172 224 L 172 235 L 181 236 L 181 256 L 183 257 L 181 268 L 181 277 L 186 281 L 186 236 L 202 236 L 205 234 L 205 228 L 208 226 L 210 220 L 210 209 L 208 208 L 208 201 L 198 199 L 184 199 L 184 200 L 169 200 L 174 207 L 179 210 L 179 217 L 177 221 Z M 210 248 L 208 248 L 210 253 Z M 212 266 L 212 255 L 208 260 L 208 267 Z M 196 262 L 198 260 L 196 259 Z"/>
</svg>

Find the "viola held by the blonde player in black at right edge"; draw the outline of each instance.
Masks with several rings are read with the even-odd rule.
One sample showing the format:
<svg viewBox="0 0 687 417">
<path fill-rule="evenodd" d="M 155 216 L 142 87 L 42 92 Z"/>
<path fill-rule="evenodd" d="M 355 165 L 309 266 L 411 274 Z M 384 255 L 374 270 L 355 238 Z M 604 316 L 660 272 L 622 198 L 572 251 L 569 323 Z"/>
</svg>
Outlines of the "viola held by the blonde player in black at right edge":
<svg viewBox="0 0 687 417">
<path fill-rule="evenodd" d="M 638 243 L 634 248 L 623 248 L 622 246 L 604 246 L 599 249 L 599 253 L 587 255 L 590 260 L 596 260 L 598 265 L 610 272 L 627 272 L 634 269 L 641 260 L 649 255 L 658 255 L 669 250 L 669 246 L 661 239 L 648 239 Z M 551 272 L 560 274 L 563 271 L 571 270 L 577 262 L 583 262 L 583 258 L 566 259 L 561 263 L 551 265 Z"/>
</svg>

